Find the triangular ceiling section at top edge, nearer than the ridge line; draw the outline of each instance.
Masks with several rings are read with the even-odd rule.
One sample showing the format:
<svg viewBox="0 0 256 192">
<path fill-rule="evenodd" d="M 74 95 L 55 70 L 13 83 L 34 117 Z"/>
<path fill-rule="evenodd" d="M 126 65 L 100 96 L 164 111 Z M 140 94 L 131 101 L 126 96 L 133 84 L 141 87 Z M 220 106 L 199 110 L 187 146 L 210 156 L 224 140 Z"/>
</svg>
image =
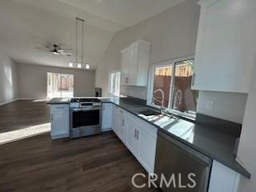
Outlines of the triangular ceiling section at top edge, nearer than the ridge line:
<svg viewBox="0 0 256 192">
<path fill-rule="evenodd" d="M 122 26 L 134 26 L 184 0 L 58 0 Z"/>
</svg>

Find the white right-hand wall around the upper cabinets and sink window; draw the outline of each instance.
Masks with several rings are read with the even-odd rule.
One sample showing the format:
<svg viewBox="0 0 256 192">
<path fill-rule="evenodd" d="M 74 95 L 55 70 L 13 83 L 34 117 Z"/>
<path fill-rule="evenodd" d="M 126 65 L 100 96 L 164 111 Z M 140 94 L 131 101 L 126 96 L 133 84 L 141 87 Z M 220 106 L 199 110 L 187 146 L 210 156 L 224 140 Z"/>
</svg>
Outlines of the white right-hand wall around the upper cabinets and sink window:
<svg viewBox="0 0 256 192">
<path fill-rule="evenodd" d="M 108 94 L 109 72 L 121 70 L 120 50 L 138 38 L 151 42 L 151 64 L 193 55 L 200 11 L 197 2 L 198 0 L 187 0 L 115 34 L 96 70 L 95 84 L 102 87 L 102 94 Z M 121 91 L 122 94 L 146 99 L 146 87 L 122 86 Z M 232 122 L 242 122 L 247 94 L 200 92 L 198 112 Z M 206 110 L 208 100 L 214 101 L 214 110 Z"/>
</svg>

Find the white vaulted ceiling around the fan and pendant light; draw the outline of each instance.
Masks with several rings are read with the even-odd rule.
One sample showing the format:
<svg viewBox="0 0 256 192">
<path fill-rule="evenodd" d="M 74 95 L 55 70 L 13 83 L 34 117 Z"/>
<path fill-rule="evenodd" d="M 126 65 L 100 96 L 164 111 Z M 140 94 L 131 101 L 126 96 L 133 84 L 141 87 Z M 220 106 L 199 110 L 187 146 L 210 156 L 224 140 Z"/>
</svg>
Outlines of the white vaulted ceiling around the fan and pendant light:
<svg viewBox="0 0 256 192">
<path fill-rule="evenodd" d="M 17 62 L 67 67 L 74 60 L 75 17 L 86 20 L 84 62 L 95 70 L 114 33 L 184 0 L 1 0 L 0 50 Z M 38 52 L 48 43 L 72 57 Z M 80 55 L 78 55 L 80 56 Z"/>
</svg>

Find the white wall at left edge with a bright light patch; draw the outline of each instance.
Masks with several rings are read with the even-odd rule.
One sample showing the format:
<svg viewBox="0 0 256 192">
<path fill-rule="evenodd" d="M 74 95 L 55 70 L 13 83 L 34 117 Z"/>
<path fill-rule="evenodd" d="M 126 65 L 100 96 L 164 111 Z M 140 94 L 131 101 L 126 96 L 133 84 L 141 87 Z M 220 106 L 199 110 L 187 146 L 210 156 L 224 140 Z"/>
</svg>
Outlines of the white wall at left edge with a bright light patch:
<svg viewBox="0 0 256 192">
<path fill-rule="evenodd" d="M 16 63 L 0 52 L 0 105 L 17 98 Z"/>
</svg>

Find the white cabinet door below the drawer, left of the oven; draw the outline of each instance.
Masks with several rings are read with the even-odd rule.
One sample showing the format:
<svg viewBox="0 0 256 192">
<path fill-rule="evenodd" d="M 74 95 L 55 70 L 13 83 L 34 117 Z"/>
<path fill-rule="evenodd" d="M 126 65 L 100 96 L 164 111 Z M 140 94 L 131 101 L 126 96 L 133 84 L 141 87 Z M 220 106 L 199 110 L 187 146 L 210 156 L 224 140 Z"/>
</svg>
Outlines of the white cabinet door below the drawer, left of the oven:
<svg viewBox="0 0 256 192">
<path fill-rule="evenodd" d="M 54 111 L 51 113 L 51 137 L 65 138 L 70 134 L 68 111 Z"/>
</svg>

